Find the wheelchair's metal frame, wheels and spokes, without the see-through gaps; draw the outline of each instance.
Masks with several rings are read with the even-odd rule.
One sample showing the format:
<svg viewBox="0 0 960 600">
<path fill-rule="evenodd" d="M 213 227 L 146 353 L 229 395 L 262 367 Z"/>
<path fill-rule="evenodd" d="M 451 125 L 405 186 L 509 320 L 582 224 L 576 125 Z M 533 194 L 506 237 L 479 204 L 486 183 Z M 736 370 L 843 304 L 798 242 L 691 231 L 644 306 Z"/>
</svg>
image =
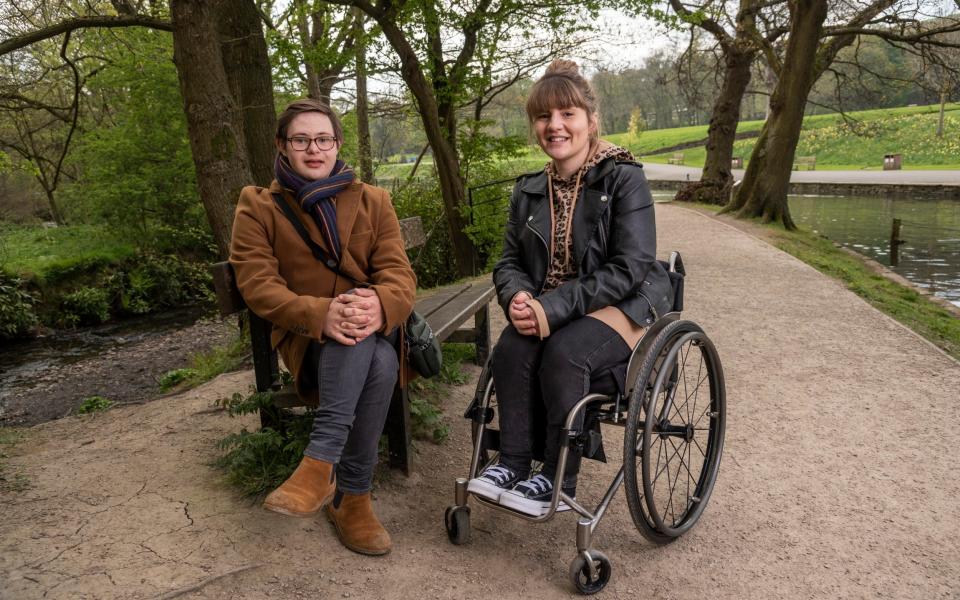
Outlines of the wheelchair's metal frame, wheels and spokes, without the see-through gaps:
<svg viewBox="0 0 960 600">
<path fill-rule="evenodd" d="M 725 388 L 723 380 L 723 371 L 720 365 L 719 357 L 712 342 L 706 337 L 702 329 L 690 321 L 681 321 L 679 309 L 682 309 L 682 278 L 684 276 L 683 263 L 680 255 L 676 252 L 671 253 L 670 260 L 664 262 L 675 281 L 675 296 L 677 296 L 674 307 L 678 310 L 662 315 L 645 332 L 643 338 L 634 347 L 629 362 L 627 364 L 627 377 L 625 393 L 616 393 L 614 395 L 591 392 L 581 398 L 574 407 L 567 413 L 564 428 L 561 432 L 561 448 L 557 462 L 557 472 L 555 481 L 563 481 L 566 470 L 566 461 L 571 448 L 582 446 L 589 443 L 590 431 L 588 429 L 589 420 L 587 414 L 593 411 L 592 417 L 598 419 L 600 423 L 610 425 L 624 426 L 624 459 L 620 465 L 613 482 L 609 485 L 603 494 L 599 504 L 592 511 L 583 504 L 570 498 L 562 490 L 562 486 L 556 485 L 551 497 L 550 507 L 546 513 L 533 516 L 526 513 L 502 506 L 497 502 L 488 500 L 481 496 L 474 496 L 474 499 L 481 505 L 493 508 L 501 512 L 519 517 L 533 523 L 542 523 L 549 521 L 557 512 L 557 507 L 563 501 L 570 508 L 580 515 L 577 521 L 576 548 L 577 554 L 570 567 L 570 577 L 578 591 L 585 594 L 592 594 L 602 590 L 609 582 L 612 573 L 610 560 L 598 550 L 592 548 L 593 534 L 600 524 L 603 516 L 606 514 L 617 491 L 624 484 L 625 479 L 630 479 L 631 487 L 626 488 L 628 505 L 634 523 L 640 532 L 654 543 L 663 544 L 676 539 L 699 519 L 703 509 L 706 506 L 713 485 L 716 480 L 716 474 L 719 469 L 720 458 L 723 448 L 723 437 L 725 429 Z M 679 277 L 677 277 L 679 275 Z M 677 281 L 679 280 L 679 281 Z M 644 469 L 644 490 L 642 496 L 638 495 L 639 486 L 635 476 L 635 471 L 627 470 L 627 462 L 630 456 L 640 452 L 631 462 L 649 461 L 649 455 L 653 452 L 649 448 L 650 439 L 654 436 L 659 439 L 683 438 L 687 446 L 691 444 L 691 439 L 697 429 L 695 423 L 687 423 L 684 426 L 673 426 L 670 423 L 671 409 L 674 405 L 675 397 L 679 390 L 678 378 L 682 375 L 686 366 L 686 355 L 682 358 L 678 356 L 685 344 L 691 343 L 697 346 L 706 357 L 707 374 L 704 378 L 698 380 L 698 386 L 702 381 L 708 381 L 710 386 L 710 408 L 705 414 L 709 415 L 709 431 L 707 448 L 701 448 L 704 452 L 704 467 L 697 481 L 696 489 L 700 491 L 699 496 L 692 496 L 693 506 L 691 510 L 691 498 L 687 499 L 688 506 L 682 513 L 683 518 L 680 523 L 667 524 L 665 515 L 656 510 L 656 506 L 651 504 L 651 499 L 655 495 L 655 484 L 651 487 L 646 476 L 647 463 L 643 464 Z M 650 356 L 651 350 L 657 349 L 656 356 Z M 664 369 L 666 365 L 668 368 Z M 638 379 L 644 376 L 644 381 Z M 685 375 L 684 375 L 685 377 Z M 698 373 L 699 378 L 699 373 Z M 684 383 L 686 380 L 684 379 Z M 661 393 L 665 393 L 662 404 L 657 404 Z M 494 382 L 490 373 L 490 359 L 484 366 L 478 382 L 477 393 L 467 409 L 464 416 L 473 421 L 472 431 L 474 438 L 473 452 L 470 460 L 469 477 L 457 478 L 455 483 L 454 504 L 449 506 L 444 515 L 444 524 L 450 541 L 454 544 L 464 544 L 470 537 L 470 507 L 469 497 L 472 495 L 467 491 L 467 484 L 470 479 L 477 477 L 479 473 L 489 464 L 492 464 L 499 455 L 499 444 L 496 447 L 485 445 L 485 434 L 489 431 L 487 424 L 493 420 L 494 410 L 490 406 L 493 397 Z M 629 400 L 629 402 L 624 402 Z M 689 400 L 689 397 L 687 398 Z M 612 406 L 607 406 L 612 403 Z M 632 407 L 632 408 L 631 408 Z M 657 418 L 650 415 L 650 410 L 656 408 Z M 574 427 L 578 415 L 584 411 L 583 426 L 580 429 Z M 636 442 L 639 435 L 639 421 L 643 415 L 643 437 Z M 632 416 L 632 422 L 630 418 Z M 682 419 L 681 419 L 682 420 Z M 651 424 L 652 423 L 652 424 Z M 632 438 L 631 438 L 631 432 Z M 633 439 L 634 444 L 629 440 Z M 602 443 L 602 442 L 601 442 Z M 697 444 L 699 446 L 699 443 Z M 630 452 L 631 446 L 633 452 Z M 646 456 L 644 456 L 644 450 Z M 671 446 L 672 443 L 671 443 Z M 681 449 L 683 446 L 680 446 Z M 673 446 L 674 453 L 678 451 Z M 492 451 L 492 455 L 484 459 L 484 454 Z M 659 457 L 658 457 L 659 466 Z M 689 450 L 687 462 L 689 463 Z M 682 457 L 681 457 L 682 463 Z M 686 471 L 690 475 L 690 464 L 686 464 Z M 689 486 L 688 486 L 689 487 Z M 673 491 L 671 490 L 671 496 Z M 642 501 L 641 501 L 642 500 Z M 646 503 L 644 507 L 643 504 Z M 672 498 L 671 498 L 672 505 Z M 675 510 L 675 509 L 674 509 Z M 689 513 L 689 514 L 688 514 Z"/>
</svg>

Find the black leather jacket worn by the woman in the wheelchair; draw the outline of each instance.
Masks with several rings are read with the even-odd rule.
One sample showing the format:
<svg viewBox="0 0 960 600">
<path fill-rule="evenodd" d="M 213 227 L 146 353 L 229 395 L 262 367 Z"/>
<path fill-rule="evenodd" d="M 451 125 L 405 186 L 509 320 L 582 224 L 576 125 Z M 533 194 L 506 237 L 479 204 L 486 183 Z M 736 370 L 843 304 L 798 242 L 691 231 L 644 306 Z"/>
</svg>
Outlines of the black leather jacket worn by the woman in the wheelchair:
<svg viewBox="0 0 960 600">
<path fill-rule="evenodd" d="M 656 260 L 653 197 L 639 164 L 610 157 L 587 172 L 573 215 L 578 275 L 543 293 L 552 235 L 547 174 L 520 176 L 510 197 L 503 257 L 493 268 L 505 314 L 521 291 L 540 301 L 550 331 L 611 305 L 644 327 L 670 311 L 673 288 Z"/>
</svg>

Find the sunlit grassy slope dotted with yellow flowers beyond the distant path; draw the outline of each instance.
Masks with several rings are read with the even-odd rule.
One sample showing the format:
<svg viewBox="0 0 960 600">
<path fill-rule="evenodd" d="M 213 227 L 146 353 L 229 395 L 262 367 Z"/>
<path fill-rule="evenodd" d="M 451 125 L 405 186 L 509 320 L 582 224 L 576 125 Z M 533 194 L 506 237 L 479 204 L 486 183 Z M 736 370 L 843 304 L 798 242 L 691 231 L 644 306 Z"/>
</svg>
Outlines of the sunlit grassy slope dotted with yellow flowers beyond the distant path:
<svg viewBox="0 0 960 600">
<path fill-rule="evenodd" d="M 935 135 L 939 105 L 910 106 L 848 113 L 860 121 L 848 126 L 838 114 L 814 115 L 804 119 L 803 132 L 797 145 L 797 156 L 816 156 L 818 170 L 880 170 L 883 155 L 903 154 L 905 169 L 960 168 L 960 105 L 947 105 L 942 138 Z M 738 131 L 760 131 L 762 121 L 744 121 Z M 952 132 L 952 133 L 951 133 Z M 639 138 L 628 133 L 607 136 L 610 141 L 643 155 L 645 162 L 666 163 L 672 152 L 646 153 L 685 142 L 705 138 L 707 127 L 680 127 L 644 132 Z M 748 159 L 755 139 L 739 140 L 734 155 Z M 684 164 L 702 167 L 706 158 L 703 147 L 683 150 Z"/>
</svg>

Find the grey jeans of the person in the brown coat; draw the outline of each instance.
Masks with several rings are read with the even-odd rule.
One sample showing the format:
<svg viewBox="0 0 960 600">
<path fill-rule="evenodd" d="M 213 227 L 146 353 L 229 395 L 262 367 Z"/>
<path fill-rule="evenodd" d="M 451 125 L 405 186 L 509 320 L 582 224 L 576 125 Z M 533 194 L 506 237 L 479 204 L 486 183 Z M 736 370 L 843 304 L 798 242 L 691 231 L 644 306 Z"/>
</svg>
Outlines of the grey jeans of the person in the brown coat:
<svg viewBox="0 0 960 600">
<path fill-rule="evenodd" d="M 320 405 L 303 453 L 336 464 L 344 492 L 370 491 L 397 369 L 397 353 L 381 335 L 355 346 L 314 342 L 304 357 L 303 383 L 319 389 Z"/>
</svg>

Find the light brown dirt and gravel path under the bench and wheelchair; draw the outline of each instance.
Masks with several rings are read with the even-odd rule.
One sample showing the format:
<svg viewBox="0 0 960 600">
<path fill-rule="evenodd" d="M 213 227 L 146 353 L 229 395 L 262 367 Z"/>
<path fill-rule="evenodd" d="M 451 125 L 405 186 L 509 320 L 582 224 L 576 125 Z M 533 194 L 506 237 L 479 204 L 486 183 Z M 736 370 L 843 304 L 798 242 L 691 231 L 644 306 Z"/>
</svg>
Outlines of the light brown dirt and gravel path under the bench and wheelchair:
<svg viewBox="0 0 960 600">
<path fill-rule="evenodd" d="M 684 316 L 723 360 L 726 445 L 673 544 L 646 542 L 618 495 L 594 540 L 613 561 L 599 597 L 960 598 L 960 364 L 758 238 L 678 206 L 657 217 L 661 252 L 687 266 Z M 0 492 L 0 598 L 576 597 L 569 513 L 534 525 L 474 507 L 473 541 L 446 539 L 471 384 L 445 401 L 449 440 L 419 444 L 409 478 L 379 478 L 394 549 L 369 558 L 209 466 L 218 439 L 255 426 L 213 403 L 251 382 L 27 430 L 7 462 L 28 487 Z M 605 434 L 611 463 L 589 463 L 578 499 L 615 471 L 622 431 Z"/>
</svg>

